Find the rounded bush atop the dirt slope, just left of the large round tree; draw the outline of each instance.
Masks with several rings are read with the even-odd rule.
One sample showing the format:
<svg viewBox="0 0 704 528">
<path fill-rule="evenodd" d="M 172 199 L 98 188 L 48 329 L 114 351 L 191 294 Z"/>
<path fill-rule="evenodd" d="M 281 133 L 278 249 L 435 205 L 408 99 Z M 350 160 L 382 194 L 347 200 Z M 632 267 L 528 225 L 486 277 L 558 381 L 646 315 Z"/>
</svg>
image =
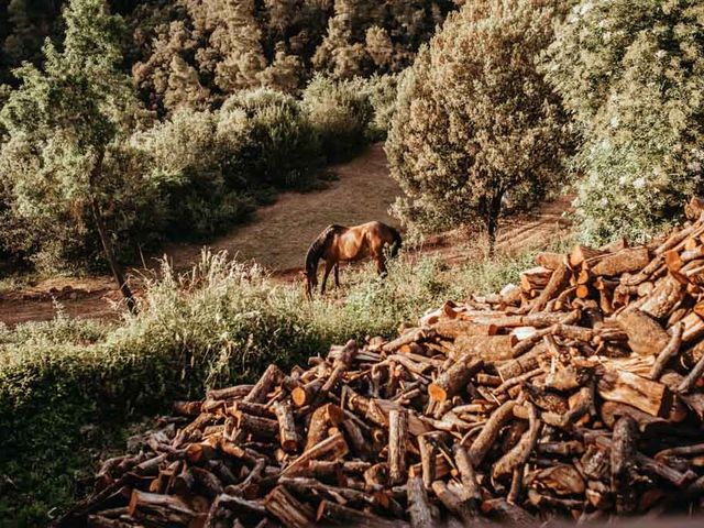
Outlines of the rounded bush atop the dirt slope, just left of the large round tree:
<svg viewBox="0 0 704 528">
<path fill-rule="evenodd" d="M 366 144 L 373 108 L 356 82 L 316 75 L 304 91 L 302 106 L 329 162 L 348 160 Z"/>
</svg>

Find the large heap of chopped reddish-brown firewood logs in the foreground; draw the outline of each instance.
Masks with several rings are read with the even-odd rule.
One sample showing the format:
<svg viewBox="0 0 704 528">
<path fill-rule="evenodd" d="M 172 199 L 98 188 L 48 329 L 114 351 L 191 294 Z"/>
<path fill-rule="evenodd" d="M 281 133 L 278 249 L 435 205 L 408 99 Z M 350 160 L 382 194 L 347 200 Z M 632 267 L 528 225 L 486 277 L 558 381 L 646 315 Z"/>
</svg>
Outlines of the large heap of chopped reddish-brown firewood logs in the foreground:
<svg viewBox="0 0 704 528">
<path fill-rule="evenodd" d="M 701 211 L 700 211 L 701 212 Z M 64 526 L 470 526 L 704 497 L 704 220 L 178 402 Z"/>
</svg>

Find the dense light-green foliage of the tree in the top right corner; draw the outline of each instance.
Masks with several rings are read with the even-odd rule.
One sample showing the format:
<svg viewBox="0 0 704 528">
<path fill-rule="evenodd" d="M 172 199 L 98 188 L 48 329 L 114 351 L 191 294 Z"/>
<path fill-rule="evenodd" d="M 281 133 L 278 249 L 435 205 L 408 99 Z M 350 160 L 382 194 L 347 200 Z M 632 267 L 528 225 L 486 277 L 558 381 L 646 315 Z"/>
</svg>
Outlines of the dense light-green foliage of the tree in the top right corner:
<svg viewBox="0 0 704 528">
<path fill-rule="evenodd" d="M 546 75 L 584 140 L 585 241 L 641 241 L 704 190 L 703 16 L 689 0 L 584 0 L 550 47 Z"/>
</svg>

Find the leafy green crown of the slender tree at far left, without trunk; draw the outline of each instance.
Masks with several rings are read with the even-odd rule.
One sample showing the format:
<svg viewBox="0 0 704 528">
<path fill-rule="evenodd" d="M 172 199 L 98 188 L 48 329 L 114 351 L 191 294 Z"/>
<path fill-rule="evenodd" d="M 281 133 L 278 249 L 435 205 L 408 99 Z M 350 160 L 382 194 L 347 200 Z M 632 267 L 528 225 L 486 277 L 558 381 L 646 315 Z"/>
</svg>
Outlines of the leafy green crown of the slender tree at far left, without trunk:
<svg viewBox="0 0 704 528">
<path fill-rule="evenodd" d="M 63 50 L 47 42 L 43 70 L 15 70 L 21 86 L 0 112 L 4 213 L 14 217 L 2 237 L 38 267 L 85 249 L 96 210 L 120 211 L 118 235 L 143 207 L 133 198 L 143 189 L 141 163 L 123 143 L 138 103 L 119 70 L 122 19 L 103 0 L 73 0 L 64 20 Z"/>
</svg>

